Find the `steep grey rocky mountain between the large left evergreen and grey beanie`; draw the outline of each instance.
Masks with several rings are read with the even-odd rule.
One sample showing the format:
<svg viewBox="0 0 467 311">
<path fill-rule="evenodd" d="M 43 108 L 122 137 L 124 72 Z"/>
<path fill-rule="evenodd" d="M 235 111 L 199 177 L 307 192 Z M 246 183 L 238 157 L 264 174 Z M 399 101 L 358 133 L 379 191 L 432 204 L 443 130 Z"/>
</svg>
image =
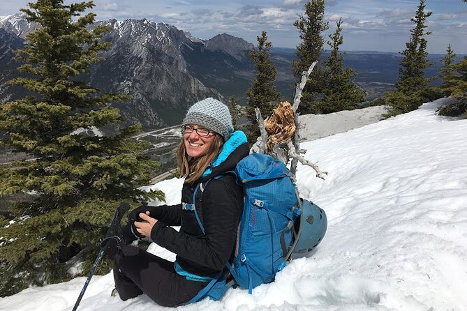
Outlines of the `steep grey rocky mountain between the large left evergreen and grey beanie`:
<svg viewBox="0 0 467 311">
<path fill-rule="evenodd" d="M 148 20 L 108 20 L 103 40 L 112 43 L 105 61 L 91 70 L 91 84 L 131 96 L 117 104 L 130 123 L 144 128 L 177 124 L 188 105 L 212 96 L 222 98 L 187 70 L 181 47 L 193 44 L 184 31 Z"/>
</svg>

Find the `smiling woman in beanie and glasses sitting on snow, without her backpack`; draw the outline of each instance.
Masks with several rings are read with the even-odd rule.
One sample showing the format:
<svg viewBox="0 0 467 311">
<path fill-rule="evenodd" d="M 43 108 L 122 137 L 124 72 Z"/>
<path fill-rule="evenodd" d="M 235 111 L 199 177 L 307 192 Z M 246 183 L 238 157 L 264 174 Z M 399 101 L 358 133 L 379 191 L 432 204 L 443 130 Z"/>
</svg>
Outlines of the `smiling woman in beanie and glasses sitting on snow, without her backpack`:
<svg viewBox="0 0 467 311">
<path fill-rule="evenodd" d="M 188 109 L 177 152 L 179 172 L 186 178 L 181 204 L 135 208 L 121 239 L 113 240 L 114 280 L 121 299 L 144 293 L 159 305 L 175 307 L 191 301 L 227 270 L 242 216 L 243 192 L 232 174 L 212 177 L 232 171 L 249 153 L 244 133 L 233 131 L 228 107 L 218 100 L 207 98 Z M 209 179 L 205 189 L 198 188 L 193 202 L 196 185 Z M 177 232 L 170 226 L 181 227 Z M 176 261 L 125 245 L 143 237 L 174 252 Z"/>
</svg>

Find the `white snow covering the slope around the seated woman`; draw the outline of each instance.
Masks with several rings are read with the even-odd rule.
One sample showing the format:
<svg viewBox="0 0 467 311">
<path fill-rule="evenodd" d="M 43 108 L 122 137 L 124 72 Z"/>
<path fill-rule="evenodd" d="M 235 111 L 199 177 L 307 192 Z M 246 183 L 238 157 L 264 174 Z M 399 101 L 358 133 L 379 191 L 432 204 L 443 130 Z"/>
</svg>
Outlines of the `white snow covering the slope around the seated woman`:
<svg viewBox="0 0 467 311">
<path fill-rule="evenodd" d="M 467 121 L 437 116 L 441 103 L 303 143 L 305 158 L 329 172 L 325 181 L 310 167 L 297 172 L 302 197 L 327 213 L 323 242 L 253 295 L 230 289 L 179 310 L 466 310 Z M 175 204 L 181 183 L 148 188 Z M 85 279 L 0 298 L 0 310 L 71 310 Z M 94 276 L 78 310 L 167 309 L 112 289 L 111 273 Z"/>
</svg>

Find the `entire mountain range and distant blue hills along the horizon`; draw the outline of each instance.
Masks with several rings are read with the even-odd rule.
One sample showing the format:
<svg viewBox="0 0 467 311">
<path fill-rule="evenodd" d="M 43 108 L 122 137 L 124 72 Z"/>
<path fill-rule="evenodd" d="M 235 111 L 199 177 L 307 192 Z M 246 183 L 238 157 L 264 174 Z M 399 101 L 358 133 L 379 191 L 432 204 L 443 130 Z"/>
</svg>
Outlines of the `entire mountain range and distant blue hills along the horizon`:
<svg viewBox="0 0 467 311">
<path fill-rule="evenodd" d="M 112 47 L 103 53 L 105 61 L 94 64 L 85 78 L 102 91 L 131 96 L 126 103 L 115 104 L 128 123 L 139 122 L 145 130 L 178 124 L 189 105 L 208 96 L 227 103 L 233 95 L 237 103 L 246 104 L 245 92 L 255 75 L 248 54 L 254 47 L 242 38 L 223 33 L 201 40 L 170 24 L 145 19 L 96 24 L 110 27 L 103 40 Z M 12 51 L 22 47 L 27 33 L 36 27 L 24 15 L 0 17 L 0 102 L 24 96 L 24 90 L 5 82 L 18 75 Z M 277 68 L 277 89 L 284 99 L 291 100 L 295 49 L 273 47 L 271 54 Z M 441 56 L 431 58 L 436 65 L 427 69 L 428 76 L 438 73 Z M 397 53 L 344 55 L 344 64 L 355 69 L 355 82 L 368 92 L 369 100 L 393 89 L 399 61 Z"/>
</svg>

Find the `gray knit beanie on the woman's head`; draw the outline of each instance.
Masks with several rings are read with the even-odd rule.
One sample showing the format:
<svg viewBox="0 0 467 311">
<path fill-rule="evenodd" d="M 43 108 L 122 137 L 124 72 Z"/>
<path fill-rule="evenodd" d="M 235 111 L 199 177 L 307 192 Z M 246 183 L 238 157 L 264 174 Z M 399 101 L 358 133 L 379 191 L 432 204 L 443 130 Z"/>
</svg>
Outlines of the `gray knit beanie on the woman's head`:
<svg viewBox="0 0 467 311">
<path fill-rule="evenodd" d="M 204 126 L 220 134 L 224 140 L 229 139 L 234 131 L 228 107 L 214 98 L 206 98 L 191 106 L 181 124 Z"/>
</svg>

